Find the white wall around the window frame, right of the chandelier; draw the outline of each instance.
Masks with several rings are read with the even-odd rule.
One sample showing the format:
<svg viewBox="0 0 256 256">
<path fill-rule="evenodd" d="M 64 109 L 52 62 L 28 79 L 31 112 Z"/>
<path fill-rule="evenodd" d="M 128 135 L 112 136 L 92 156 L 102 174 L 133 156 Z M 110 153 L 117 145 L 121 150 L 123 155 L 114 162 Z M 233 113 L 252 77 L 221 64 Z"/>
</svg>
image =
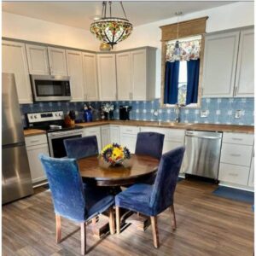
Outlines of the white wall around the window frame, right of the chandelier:
<svg viewBox="0 0 256 256">
<path fill-rule="evenodd" d="M 183 15 L 182 20 L 191 20 L 208 16 L 207 32 L 251 26 L 254 24 L 253 3 L 230 3 L 213 9 L 202 10 L 189 15 Z M 132 21 L 132 20 L 131 20 Z M 157 48 L 156 55 L 156 97 L 160 97 L 160 48 L 161 30 L 160 26 L 176 23 L 177 18 L 160 20 L 142 26 L 136 26 L 131 36 L 125 41 L 117 44 L 116 49 L 129 49 L 141 46 L 154 46 Z"/>
</svg>

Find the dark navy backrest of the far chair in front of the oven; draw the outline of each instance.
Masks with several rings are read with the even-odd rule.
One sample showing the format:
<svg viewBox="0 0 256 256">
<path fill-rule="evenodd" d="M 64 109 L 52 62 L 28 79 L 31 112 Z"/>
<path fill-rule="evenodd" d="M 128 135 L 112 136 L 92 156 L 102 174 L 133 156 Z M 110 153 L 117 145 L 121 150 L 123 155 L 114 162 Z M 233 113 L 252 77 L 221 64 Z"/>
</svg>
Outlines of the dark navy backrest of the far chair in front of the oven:
<svg viewBox="0 0 256 256">
<path fill-rule="evenodd" d="M 67 157 L 77 160 L 99 154 L 96 136 L 75 137 L 64 140 Z"/>
</svg>

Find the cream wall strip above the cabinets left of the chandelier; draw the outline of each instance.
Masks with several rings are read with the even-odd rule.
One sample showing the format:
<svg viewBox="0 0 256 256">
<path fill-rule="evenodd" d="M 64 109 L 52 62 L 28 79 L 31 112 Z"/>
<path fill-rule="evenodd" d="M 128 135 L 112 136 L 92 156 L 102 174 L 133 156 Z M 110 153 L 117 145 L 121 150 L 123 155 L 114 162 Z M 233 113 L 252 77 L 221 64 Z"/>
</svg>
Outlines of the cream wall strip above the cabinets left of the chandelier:
<svg viewBox="0 0 256 256">
<path fill-rule="evenodd" d="M 98 50 L 100 45 L 89 31 L 6 12 L 2 13 L 2 36 L 79 49 Z"/>
</svg>

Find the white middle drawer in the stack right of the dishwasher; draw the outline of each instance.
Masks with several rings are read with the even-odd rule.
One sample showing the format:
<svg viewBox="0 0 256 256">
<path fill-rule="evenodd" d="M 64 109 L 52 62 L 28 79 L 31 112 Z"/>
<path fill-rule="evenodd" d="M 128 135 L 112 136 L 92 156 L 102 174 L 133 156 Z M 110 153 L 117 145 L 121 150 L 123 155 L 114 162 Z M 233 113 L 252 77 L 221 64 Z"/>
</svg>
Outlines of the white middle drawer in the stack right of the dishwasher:
<svg viewBox="0 0 256 256">
<path fill-rule="evenodd" d="M 253 146 L 222 143 L 220 162 L 238 166 L 250 166 Z"/>
</svg>

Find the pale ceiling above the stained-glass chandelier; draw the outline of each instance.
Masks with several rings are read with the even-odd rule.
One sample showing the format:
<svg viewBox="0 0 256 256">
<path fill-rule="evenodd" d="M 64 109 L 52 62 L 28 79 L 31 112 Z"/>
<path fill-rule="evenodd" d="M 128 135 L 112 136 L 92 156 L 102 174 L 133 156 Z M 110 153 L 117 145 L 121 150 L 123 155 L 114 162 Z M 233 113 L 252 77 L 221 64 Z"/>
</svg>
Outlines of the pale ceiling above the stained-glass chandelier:
<svg viewBox="0 0 256 256">
<path fill-rule="evenodd" d="M 175 12 L 189 14 L 203 9 L 211 9 L 228 3 L 228 1 L 137 1 L 123 2 L 127 18 L 133 26 L 139 26 L 157 20 L 175 16 Z M 47 20 L 67 26 L 89 30 L 95 16 L 102 15 L 102 2 L 3 2 L 3 11 L 24 15 L 39 20 Z M 112 15 L 121 17 L 122 9 L 118 2 L 112 3 Z"/>
</svg>

